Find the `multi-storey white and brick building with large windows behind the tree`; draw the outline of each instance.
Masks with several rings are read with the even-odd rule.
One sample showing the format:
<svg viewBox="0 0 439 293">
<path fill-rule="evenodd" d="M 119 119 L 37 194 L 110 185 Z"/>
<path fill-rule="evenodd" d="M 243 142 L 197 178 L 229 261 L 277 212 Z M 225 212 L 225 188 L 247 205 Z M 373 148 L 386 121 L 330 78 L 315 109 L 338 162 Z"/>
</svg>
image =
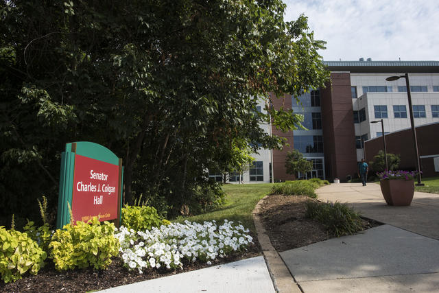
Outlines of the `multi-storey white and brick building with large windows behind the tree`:
<svg viewBox="0 0 439 293">
<path fill-rule="evenodd" d="M 346 181 L 355 176 L 357 162 L 365 157 L 364 141 L 382 135 L 381 124 L 370 122 L 383 119 L 385 133 L 410 128 L 405 79 L 386 81 L 391 75 L 409 73 L 416 126 L 439 122 L 439 61 L 360 58 L 325 64 L 331 71 L 331 82 L 324 89 L 300 96 L 300 104 L 291 95 L 273 99 L 274 107 L 283 105 L 304 115 L 308 130 L 282 133 L 272 126 L 272 133 L 285 137 L 289 147 L 273 150 L 272 159 L 270 151 L 262 150 L 249 174 L 243 174 L 244 183 L 270 182 L 267 172 L 271 162 L 274 180 L 294 179 L 285 172 L 287 152 L 293 148 L 313 161 L 312 172 L 302 174 L 305 178 Z M 432 139 L 439 143 L 438 138 Z M 255 175 L 261 180 L 254 180 L 258 179 Z"/>
</svg>

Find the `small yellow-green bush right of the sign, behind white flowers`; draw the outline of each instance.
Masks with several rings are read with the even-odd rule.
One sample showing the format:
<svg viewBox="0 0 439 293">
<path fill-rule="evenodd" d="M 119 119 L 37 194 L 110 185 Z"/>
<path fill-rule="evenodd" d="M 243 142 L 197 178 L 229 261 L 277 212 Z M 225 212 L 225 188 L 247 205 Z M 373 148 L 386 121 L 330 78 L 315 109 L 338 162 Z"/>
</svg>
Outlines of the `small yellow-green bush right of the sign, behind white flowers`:
<svg viewBox="0 0 439 293">
<path fill-rule="evenodd" d="M 145 231 L 152 227 L 161 226 L 163 220 L 154 207 L 136 207 L 126 204 L 122 208 L 122 224 L 134 231 Z"/>
</svg>

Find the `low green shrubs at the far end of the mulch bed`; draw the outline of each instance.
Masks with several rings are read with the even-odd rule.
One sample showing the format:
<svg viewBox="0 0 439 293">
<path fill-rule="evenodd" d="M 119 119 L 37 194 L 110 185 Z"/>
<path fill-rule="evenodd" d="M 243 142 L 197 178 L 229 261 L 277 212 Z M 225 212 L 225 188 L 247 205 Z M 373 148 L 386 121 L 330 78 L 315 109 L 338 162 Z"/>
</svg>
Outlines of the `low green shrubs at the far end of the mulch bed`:
<svg viewBox="0 0 439 293">
<path fill-rule="evenodd" d="M 312 178 L 310 180 L 287 181 L 285 183 L 276 183 L 270 194 L 285 194 L 287 196 L 309 196 L 317 198 L 316 191 L 318 187 L 329 184 L 327 180 Z"/>
</svg>

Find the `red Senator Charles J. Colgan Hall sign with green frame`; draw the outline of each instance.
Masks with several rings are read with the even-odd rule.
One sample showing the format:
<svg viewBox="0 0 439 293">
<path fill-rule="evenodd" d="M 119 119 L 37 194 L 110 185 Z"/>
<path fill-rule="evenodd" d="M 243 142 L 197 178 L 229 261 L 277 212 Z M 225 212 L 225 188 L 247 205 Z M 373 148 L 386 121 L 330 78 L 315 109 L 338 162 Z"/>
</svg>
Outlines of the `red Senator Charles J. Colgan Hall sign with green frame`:
<svg viewBox="0 0 439 293">
<path fill-rule="evenodd" d="M 67 143 L 62 152 L 57 228 L 73 221 L 114 220 L 119 226 L 122 159 L 103 145 Z M 74 224 L 74 223 L 73 223 Z"/>
</svg>

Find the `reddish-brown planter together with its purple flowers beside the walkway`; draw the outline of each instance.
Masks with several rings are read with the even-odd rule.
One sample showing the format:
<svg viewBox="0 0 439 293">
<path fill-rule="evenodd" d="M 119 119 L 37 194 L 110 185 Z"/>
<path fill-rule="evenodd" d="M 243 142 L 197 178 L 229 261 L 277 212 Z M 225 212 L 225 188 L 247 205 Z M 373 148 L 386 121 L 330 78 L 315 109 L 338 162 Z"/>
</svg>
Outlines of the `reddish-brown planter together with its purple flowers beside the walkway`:
<svg viewBox="0 0 439 293">
<path fill-rule="evenodd" d="M 414 178 L 417 172 L 389 171 L 377 173 L 385 202 L 389 205 L 410 205 L 414 196 Z"/>
</svg>

